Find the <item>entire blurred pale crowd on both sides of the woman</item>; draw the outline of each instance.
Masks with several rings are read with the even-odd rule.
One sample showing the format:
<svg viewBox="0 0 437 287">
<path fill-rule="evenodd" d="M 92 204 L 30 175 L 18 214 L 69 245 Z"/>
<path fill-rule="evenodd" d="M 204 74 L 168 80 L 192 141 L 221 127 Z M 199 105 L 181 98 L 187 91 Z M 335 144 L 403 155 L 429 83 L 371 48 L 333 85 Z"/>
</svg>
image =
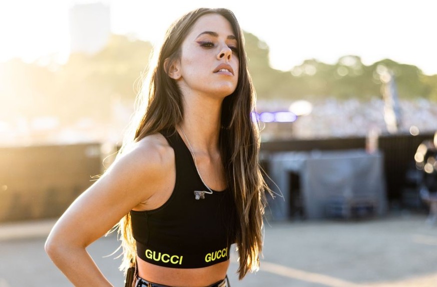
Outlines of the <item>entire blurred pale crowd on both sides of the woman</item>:
<svg viewBox="0 0 437 287">
<path fill-rule="evenodd" d="M 302 101 L 302 100 L 301 100 Z M 288 111 L 296 101 L 258 100 L 257 112 Z M 437 129 L 437 102 L 424 98 L 400 100 L 398 132 L 433 132 Z M 306 101 L 305 113 L 292 122 L 261 123 L 262 140 L 289 138 L 329 138 L 366 136 L 369 132 L 388 133 L 384 119 L 384 100 L 367 101 L 350 98 Z M 0 121 L 0 145 L 71 144 L 78 142 L 120 142 L 132 105 L 111 102 L 111 119 L 97 122 L 93 118 L 78 118 L 65 125 L 55 117 L 18 117 L 12 122 Z M 96 128 L 100 126 L 101 128 Z"/>
</svg>

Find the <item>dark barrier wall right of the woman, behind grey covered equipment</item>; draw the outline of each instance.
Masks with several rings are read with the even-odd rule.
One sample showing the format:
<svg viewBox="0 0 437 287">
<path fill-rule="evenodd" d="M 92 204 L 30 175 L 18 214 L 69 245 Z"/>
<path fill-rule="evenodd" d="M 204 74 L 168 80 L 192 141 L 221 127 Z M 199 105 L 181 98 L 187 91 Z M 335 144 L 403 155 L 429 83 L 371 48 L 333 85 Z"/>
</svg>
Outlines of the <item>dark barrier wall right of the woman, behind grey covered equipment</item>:
<svg viewBox="0 0 437 287">
<path fill-rule="evenodd" d="M 380 135 L 378 147 L 384 155 L 384 173 L 387 199 L 399 202 L 405 186 L 405 175 L 408 168 L 414 166 L 414 153 L 424 140 L 432 140 L 433 133 L 410 135 Z M 261 144 L 261 152 L 268 155 L 277 151 L 337 150 L 366 148 L 365 137 L 328 138 L 312 140 L 269 141 Z M 264 162 L 268 173 L 268 164 Z"/>
</svg>

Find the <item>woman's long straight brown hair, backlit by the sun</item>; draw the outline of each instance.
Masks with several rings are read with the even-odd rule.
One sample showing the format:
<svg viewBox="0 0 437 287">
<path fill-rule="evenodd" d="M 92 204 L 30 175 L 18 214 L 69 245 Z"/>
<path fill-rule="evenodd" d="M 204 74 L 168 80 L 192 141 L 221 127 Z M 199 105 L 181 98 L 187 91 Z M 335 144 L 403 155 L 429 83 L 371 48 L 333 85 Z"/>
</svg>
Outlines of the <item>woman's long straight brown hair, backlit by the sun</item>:
<svg viewBox="0 0 437 287">
<path fill-rule="evenodd" d="M 134 127 L 132 134 L 125 138 L 120 154 L 131 143 L 162 129 L 174 128 L 182 122 L 182 95 L 175 80 L 168 76 L 165 65 L 179 58 L 181 44 L 190 28 L 199 17 L 210 13 L 224 16 L 230 22 L 238 40 L 238 83 L 235 91 L 225 97 L 222 103 L 219 144 L 227 186 L 233 192 L 236 206 L 236 244 L 241 279 L 249 270 L 259 267 L 265 192 L 270 189 L 263 179 L 258 160 L 259 127 L 252 119 L 255 90 L 248 71 L 243 33 L 232 11 L 223 8 L 199 8 L 188 12 L 170 26 L 159 50 L 156 65 L 149 69 L 148 92 L 140 92 L 137 98 L 140 100 L 136 113 L 139 117 L 131 123 Z M 129 214 L 119 222 L 118 231 L 124 255 L 121 269 L 126 270 L 136 256 L 136 243 L 132 236 Z"/>
</svg>

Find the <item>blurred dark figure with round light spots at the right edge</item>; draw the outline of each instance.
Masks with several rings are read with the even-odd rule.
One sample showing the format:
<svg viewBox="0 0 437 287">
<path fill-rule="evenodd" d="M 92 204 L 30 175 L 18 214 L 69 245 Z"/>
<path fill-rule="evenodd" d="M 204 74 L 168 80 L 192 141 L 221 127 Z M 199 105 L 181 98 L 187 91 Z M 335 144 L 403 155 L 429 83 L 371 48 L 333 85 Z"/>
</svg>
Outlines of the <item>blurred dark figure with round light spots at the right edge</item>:
<svg viewBox="0 0 437 287">
<path fill-rule="evenodd" d="M 426 222 L 437 223 L 437 131 L 433 140 L 425 140 L 417 147 L 414 155 L 416 167 L 422 171 L 420 180 L 420 197 L 429 205 Z"/>
</svg>

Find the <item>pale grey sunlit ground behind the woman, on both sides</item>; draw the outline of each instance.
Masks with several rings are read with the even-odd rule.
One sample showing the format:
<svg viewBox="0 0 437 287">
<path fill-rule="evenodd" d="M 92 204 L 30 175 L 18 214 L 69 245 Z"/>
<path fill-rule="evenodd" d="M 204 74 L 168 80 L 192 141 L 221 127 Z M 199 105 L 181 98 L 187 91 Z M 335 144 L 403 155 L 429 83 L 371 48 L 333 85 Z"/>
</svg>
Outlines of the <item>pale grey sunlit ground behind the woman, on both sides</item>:
<svg viewBox="0 0 437 287">
<path fill-rule="evenodd" d="M 238 281 L 235 253 L 228 276 L 233 287 L 431 287 L 437 286 L 437 226 L 425 215 L 401 213 L 361 221 L 270 222 L 258 272 Z M 54 220 L 0 223 L 0 287 L 72 286 L 44 251 Z M 115 235 L 89 252 L 114 286 L 123 286 Z"/>
</svg>

